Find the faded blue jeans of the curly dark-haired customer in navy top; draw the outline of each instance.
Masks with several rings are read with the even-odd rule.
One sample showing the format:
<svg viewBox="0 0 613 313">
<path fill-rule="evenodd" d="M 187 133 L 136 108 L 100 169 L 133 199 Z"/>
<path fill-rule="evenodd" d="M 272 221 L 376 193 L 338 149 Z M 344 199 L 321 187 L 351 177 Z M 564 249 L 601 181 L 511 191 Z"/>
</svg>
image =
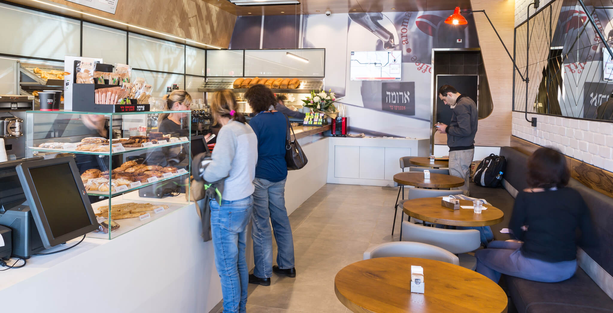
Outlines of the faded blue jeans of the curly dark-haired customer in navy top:
<svg viewBox="0 0 613 313">
<path fill-rule="evenodd" d="M 253 274 L 259 278 L 272 276 L 272 230 L 275 232 L 276 265 L 279 268 L 294 267 L 294 238 L 285 208 L 285 179 L 270 182 L 265 179 L 253 180 L 256 190 L 253 192 L 253 218 L 251 237 L 253 238 L 253 260 L 256 268 Z"/>
</svg>

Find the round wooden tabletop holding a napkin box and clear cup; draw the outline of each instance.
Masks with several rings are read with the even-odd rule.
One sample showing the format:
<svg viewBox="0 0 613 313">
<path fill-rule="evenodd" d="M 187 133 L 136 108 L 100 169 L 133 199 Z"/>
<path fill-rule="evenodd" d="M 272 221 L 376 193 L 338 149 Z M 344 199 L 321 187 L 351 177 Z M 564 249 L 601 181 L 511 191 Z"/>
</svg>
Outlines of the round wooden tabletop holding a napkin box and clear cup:
<svg viewBox="0 0 613 313">
<path fill-rule="evenodd" d="M 489 226 L 500 223 L 504 218 L 504 213 L 490 204 L 484 205 L 487 210 L 476 214 L 472 208 L 452 210 L 443 207 L 441 200 L 440 197 L 413 199 L 406 201 L 402 209 L 414 218 L 449 226 Z M 460 205 L 473 206 L 473 202 L 460 200 Z"/>
</svg>

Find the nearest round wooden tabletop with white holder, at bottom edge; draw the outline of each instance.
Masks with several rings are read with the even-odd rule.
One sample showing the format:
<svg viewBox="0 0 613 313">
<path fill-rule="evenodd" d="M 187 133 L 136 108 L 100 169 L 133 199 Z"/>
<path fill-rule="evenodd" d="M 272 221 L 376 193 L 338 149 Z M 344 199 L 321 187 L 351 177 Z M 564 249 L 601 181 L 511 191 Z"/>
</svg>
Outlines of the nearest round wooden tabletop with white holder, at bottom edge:
<svg viewBox="0 0 613 313">
<path fill-rule="evenodd" d="M 411 293 L 411 265 L 424 268 L 424 293 Z M 501 313 L 504 291 L 491 279 L 451 263 L 413 257 L 379 257 L 337 273 L 334 290 L 352 312 Z"/>
</svg>

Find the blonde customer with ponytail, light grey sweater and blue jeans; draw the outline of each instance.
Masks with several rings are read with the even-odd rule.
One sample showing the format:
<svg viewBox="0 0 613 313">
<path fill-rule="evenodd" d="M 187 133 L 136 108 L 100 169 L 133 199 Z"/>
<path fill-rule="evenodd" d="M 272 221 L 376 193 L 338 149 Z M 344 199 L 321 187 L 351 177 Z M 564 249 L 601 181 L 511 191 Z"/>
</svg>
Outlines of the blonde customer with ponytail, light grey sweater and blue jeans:
<svg viewBox="0 0 613 313">
<path fill-rule="evenodd" d="M 213 94 L 211 114 L 221 125 L 211 163 L 204 170 L 207 182 L 224 180 L 221 204 L 209 203 L 215 266 L 221 278 L 224 312 L 246 312 L 249 269 L 245 259 L 247 224 L 251 221 L 253 179 L 257 163 L 257 137 L 237 112 L 232 90 Z"/>
</svg>

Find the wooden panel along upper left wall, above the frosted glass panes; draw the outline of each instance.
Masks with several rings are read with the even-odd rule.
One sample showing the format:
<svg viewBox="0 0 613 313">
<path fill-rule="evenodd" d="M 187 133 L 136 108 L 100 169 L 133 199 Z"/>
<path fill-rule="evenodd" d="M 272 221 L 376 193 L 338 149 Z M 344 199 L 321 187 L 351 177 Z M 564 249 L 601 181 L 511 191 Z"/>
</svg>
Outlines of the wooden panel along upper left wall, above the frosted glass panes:
<svg viewBox="0 0 613 313">
<path fill-rule="evenodd" d="M 45 0 L 43 0 L 45 1 Z M 91 9 L 66 0 L 46 0 L 53 4 L 61 4 L 81 12 L 91 13 L 100 17 L 111 18 L 123 23 L 134 24 L 154 31 L 164 32 L 178 37 L 196 40 L 197 42 L 227 48 L 230 44 L 236 15 L 219 9 L 202 0 L 120 0 L 115 15 L 100 10 Z M 82 18 L 94 23 L 107 24 L 115 28 L 124 28 L 98 18 L 88 17 L 79 13 L 51 6 L 45 6 L 29 0 L 12 0 L 25 6 L 37 7 L 51 12 Z M 126 28 L 124 28 L 126 29 Z M 127 29 L 131 30 L 131 29 Z M 140 29 L 132 29 L 147 35 Z M 148 34 L 162 37 L 159 34 Z M 163 38 L 162 38 L 163 39 Z M 177 41 L 176 39 L 169 39 Z M 205 48 L 204 46 L 202 48 Z"/>
</svg>

